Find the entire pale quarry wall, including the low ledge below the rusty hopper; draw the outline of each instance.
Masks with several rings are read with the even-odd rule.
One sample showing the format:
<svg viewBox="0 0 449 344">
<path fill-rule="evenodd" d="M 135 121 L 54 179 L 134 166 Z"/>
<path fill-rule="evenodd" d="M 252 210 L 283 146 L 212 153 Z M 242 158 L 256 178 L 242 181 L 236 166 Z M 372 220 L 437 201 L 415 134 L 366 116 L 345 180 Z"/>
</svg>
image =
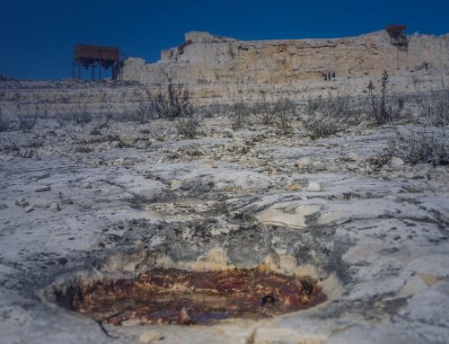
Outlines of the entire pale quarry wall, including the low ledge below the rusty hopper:
<svg viewBox="0 0 449 344">
<path fill-rule="evenodd" d="M 179 47 L 161 59 L 124 61 L 123 80 L 9 80 L 0 83 L 6 115 L 121 115 L 136 110 L 169 80 L 184 85 L 196 104 L 241 101 L 306 101 L 330 93 L 367 95 L 380 89 L 383 70 L 389 93 L 444 89 L 449 84 L 449 34 L 408 37 L 407 49 L 392 45 L 386 31 L 331 40 L 244 41 L 188 32 Z"/>
</svg>

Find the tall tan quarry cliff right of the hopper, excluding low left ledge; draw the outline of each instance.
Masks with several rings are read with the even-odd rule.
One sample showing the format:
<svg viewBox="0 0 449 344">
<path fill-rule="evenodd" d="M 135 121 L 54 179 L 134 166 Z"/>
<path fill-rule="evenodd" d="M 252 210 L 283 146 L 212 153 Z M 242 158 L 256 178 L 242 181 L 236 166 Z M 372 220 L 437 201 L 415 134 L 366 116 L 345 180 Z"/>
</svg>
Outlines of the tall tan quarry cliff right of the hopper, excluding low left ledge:
<svg viewBox="0 0 449 344">
<path fill-rule="evenodd" d="M 157 88 L 172 80 L 200 102 L 251 101 L 270 96 L 296 101 L 328 93 L 366 92 L 370 79 L 390 75 L 395 92 L 435 89 L 448 83 L 449 37 L 412 35 L 406 48 L 387 31 L 320 40 L 235 40 L 188 32 L 179 47 L 163 50 L 156 63 L 125 61 L 125 80 Z M 437 82 L 436 82 L 437 81 Z"/>
</svg>

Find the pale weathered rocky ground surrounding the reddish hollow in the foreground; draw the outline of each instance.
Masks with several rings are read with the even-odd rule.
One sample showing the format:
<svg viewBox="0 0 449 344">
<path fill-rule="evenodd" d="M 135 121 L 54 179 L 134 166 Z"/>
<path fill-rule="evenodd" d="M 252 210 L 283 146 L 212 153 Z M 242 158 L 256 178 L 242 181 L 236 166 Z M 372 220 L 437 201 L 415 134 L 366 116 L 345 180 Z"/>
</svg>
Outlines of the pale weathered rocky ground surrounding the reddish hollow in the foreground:
<svg viewBox="0 0 449 344">
<path fill-rule="evenodd" d="M 395 130 L 313 141 L 216 118 L 183 139 L 161 119 L 40 119 L 0 133 L 2 343 L 447 342 L 448 167 L 370 163 Z M 100 326 L 52 302 L 153 266 L 261 263 L 320 278 L 328 301 L 213 326 Z"/>
</svg>

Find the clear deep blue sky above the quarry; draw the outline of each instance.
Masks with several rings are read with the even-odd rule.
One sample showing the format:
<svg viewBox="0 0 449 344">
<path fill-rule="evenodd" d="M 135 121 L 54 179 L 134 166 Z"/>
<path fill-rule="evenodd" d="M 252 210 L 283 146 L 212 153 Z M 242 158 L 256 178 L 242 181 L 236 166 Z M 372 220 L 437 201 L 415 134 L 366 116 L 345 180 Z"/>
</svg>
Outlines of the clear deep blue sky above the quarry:
<svg viewBox="0 0 449 344">
<path fill-rule="evenodd" d="M 0 0 L 0 74 L 60 79 L 78 43 L 159 58 L 186 31 L 242 40 L 355 36 L 405 23 L 408 32 L 449 32 L 449 0 Z"/>
</svg>

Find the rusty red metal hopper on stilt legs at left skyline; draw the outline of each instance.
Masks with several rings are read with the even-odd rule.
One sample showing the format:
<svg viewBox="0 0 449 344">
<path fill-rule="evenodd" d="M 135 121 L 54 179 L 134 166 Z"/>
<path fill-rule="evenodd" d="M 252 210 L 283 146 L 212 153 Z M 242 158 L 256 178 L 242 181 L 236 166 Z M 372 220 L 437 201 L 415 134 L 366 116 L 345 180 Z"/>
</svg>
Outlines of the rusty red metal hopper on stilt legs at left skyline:
<svg viewBox="0 0 449 344">
<path fill-rule="evenodd" d="M 98 66 L 98 80 L 101 80 L 101 68 L 112 67 L 112 79 L 121 80 L 122 61 L 119 58 L 119 48 L 78 44 L 72 60 L 72 77 L 75 79 L 75 66 L 78 66 L 78 79 L 81 79 L 81 67 L 92 66 L 92 80 L 95 80 L 95 67 Z"/>
</svg>

